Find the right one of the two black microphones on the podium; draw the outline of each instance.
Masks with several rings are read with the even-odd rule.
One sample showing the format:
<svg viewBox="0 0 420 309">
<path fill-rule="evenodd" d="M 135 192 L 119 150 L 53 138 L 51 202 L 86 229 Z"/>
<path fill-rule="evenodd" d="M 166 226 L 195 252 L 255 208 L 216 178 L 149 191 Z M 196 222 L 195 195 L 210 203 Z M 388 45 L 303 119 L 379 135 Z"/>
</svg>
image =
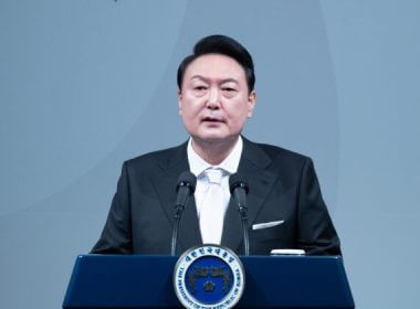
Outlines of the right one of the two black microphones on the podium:
<svg viewBox="0 0 420 309">
<path fill-rule="evenodd" d="M 250 255 L 250 237 L 248 235 L 248 206 L 246 206 L 246 194 L 250 191 L 248 183 L 243 175 L 238 173 L 232 174 L 229 178 L 229 189 L 230 193 L 233 195 L 233 200 L 238 205 L 239 216 L 242 222 L 243 231 L 243 244 L 245 248 L 245 255 Z"/>
</svg>

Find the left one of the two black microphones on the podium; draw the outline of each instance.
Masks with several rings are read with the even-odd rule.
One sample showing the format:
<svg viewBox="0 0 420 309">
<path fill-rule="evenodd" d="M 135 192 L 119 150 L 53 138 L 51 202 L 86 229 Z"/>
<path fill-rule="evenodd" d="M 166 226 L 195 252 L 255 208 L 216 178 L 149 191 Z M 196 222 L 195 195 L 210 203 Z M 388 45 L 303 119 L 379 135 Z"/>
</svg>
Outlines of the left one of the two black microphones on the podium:
<svg viewBox="0 0 420 309">
<path fill-rule="evenodd" d="M 175 256 L 175 251 L 177 248 L 179 222 L 190 195 L 196 191 L 196 184 L 197 178 L 190 171 L 182 172 L 178 178 L 178 184 L 176 189 L 177 200 L 175 203 L 172 241 L 170 243 L 170 254 L 172 256 Z"/>
</svg>

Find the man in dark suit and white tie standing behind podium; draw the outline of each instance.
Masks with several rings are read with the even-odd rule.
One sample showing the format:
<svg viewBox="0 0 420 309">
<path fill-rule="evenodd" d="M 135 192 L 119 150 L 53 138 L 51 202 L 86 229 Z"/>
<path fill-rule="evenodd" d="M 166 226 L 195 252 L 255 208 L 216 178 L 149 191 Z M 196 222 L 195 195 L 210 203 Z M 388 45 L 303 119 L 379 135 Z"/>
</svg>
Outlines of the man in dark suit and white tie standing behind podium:
<svg viewBox="0 0 420 309">
<path fill-rule="evenodd" d="M 92 253 L 169 254 L 178 177 L 197 189 L 179 227 L 178 253 L 203 243 L 243 254 L 229 177 L 249 184 L 250 253 L 276 248 L 340 254 L 312 160 L 241 137 L 256 95 L 249 52 L 223 35 L 201 39 L 178 68 L 178 105 L 190 139 L 123 164 L 104 231 Z"/>
</svg>

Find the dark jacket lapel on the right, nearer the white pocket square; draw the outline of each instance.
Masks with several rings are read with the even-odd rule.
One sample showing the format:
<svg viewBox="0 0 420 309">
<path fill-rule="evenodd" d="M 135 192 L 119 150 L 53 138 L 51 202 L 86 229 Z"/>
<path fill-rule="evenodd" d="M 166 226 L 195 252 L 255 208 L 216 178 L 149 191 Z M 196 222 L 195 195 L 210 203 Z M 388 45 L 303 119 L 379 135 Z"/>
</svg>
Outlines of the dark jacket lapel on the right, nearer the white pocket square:
<svg viewBox="0 0 420 309">
<path fill-rule="evenodd" d="M 250 226 L 260 213 L 263 203 L 277 178 L 275 173 L 267 170 L 272 160 L 260 147 L 258 147 L 258 145 L 243 138 L 243 151 L 238 173 L 245 178 L 250 189 L 246 199 Z M 242 225 L 238 207 L 231 198 L 224 216 L 221 244 L 238 252 L 242 242 Z M 250 244 L 250 247 L 252 251 L 252 244 Z"/>
</svg>

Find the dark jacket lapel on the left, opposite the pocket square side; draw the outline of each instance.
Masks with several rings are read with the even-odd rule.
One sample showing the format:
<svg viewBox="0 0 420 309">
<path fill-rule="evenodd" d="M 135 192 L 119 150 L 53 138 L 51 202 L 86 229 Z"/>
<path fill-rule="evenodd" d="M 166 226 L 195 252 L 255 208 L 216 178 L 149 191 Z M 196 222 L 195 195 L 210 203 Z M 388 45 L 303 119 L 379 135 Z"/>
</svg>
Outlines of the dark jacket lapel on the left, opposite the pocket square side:
<svg viewBox="0 0 420 309">
<path fill-rule="evenodd" d="M 176 187 L 181 172 L 189 170 L 187 158 L 187 142 L 175 148 L 172 151 L 165 153 L 159 159 L 162 174 L 154 178 L 154 184 L 157 194 L 161 201 L 161 206 L 169 221 L 174 226 L 175 201 L 177 199 Z M 170 237 L 168 238 L 168 252 L 170 248 Z M 193 195 L 190 196 L 188 204 L 183 211 L 179 230 L 177 253 L 181 253 L 192 246 L 200 245 L 201 235 L 198 223 L 197 207 Z"/>
</svg>

